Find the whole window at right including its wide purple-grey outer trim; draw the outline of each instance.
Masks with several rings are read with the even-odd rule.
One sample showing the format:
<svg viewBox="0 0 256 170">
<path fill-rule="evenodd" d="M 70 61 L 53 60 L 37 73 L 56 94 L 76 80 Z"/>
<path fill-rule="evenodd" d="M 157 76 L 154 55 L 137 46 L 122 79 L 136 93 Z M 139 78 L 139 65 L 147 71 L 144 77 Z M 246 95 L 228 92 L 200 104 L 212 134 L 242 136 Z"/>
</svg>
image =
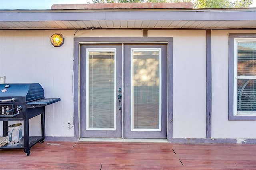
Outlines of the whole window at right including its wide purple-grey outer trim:
<svg viewBox="0 0 256 170">
<path fill-rule="evenodd" d="M 229 120 L 255 120 L 256 38 L 246 34 L 230 34 L 229 57 L 229 93 L 232 93 L 229 94 Z"/>
</svg>

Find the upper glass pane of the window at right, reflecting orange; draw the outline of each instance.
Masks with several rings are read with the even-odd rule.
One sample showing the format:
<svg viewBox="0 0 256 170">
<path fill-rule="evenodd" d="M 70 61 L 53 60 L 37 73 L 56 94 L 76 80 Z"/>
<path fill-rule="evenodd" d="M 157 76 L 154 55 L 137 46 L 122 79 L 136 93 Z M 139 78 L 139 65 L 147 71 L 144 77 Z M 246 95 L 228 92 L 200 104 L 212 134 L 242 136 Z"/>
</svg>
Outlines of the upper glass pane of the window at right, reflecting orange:
<svg viewBox="0 0 256 170">
<path fill-rule="evenodd" d="M 238 42 L 237 75 L 256 75 L 256 42 Z"/>
</svg>

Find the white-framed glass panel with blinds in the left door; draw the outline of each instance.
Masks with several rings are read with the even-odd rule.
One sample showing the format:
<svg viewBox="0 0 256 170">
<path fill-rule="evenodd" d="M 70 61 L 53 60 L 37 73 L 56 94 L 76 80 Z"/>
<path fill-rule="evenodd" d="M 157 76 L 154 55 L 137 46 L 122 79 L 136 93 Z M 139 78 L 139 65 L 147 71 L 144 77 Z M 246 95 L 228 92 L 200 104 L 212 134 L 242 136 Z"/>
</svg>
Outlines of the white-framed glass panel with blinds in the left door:
<svg viewBox="0 0 256 170">
<path fill-rule="evenodd" d="M 115 128 L 115 50 L 88 50 L 87 127 Z"/>
</svg>

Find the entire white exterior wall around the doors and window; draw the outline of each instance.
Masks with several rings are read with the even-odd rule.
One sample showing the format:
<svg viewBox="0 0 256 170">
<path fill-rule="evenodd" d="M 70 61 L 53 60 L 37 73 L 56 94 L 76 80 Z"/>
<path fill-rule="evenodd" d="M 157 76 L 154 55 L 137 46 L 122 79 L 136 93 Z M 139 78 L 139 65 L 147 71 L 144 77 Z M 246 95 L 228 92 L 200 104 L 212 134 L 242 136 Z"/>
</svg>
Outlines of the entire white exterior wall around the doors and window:
<svg viewBox="0 0 256 170">
<path fill-rule="evenodd" d="M 53 47 L 50 36 L 65 43 Z M 256 30 L 212 30 L 212 138 L 256 138 L 256 121 L 228 121 L 228 34 Z M 73 137 L 74 37 L 142 37 L 142 30 L 1 30 L 0 75 L 6 83 L 40 83 L 46 98 L 46 136 Z M 206 31 L 148 30 L 150 37 L 173 37 L 173 138 L 206 136 Z M 40 134 L 40 117 L 30 134 Z M 9 121 L 9 125 L 15 123 Z M 2 121 L 0 121 L 2 127 Z M 1 129 L 1 128 L 0 128 Z M 0 130 L 2 135 L 2 130 Z"/>
</svg>

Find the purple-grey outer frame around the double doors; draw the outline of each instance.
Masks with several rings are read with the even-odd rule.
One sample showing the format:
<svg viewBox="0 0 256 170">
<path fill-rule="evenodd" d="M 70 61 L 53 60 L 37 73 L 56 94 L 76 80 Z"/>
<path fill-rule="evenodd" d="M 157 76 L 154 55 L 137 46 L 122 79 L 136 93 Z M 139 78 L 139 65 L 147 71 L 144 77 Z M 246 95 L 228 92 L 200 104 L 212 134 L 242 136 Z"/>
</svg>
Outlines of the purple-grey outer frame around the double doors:
<svg viewBox="0 0 256 170">
<path fill-rule="evenodd" d="M 73 73 L 73 97 L 74 97 L 74 137 L 79 140 L 80 138 L 80 110 L 81 107 L 81 96 L 80 91 L 83 87 L 80 86 L 81 80 L 81 67 L 80 67 L 80 45 L 81 44 L 116 44 L 116 43 L 162 43 L 167 44 L 167 55 L 168 55 L 168 65 L 167 65 L 167 139 L 172 140 L 173 136 L 173 42 L 172 37 L 81 37 L 74 38 L 74 73 Z"/>
</svg>

